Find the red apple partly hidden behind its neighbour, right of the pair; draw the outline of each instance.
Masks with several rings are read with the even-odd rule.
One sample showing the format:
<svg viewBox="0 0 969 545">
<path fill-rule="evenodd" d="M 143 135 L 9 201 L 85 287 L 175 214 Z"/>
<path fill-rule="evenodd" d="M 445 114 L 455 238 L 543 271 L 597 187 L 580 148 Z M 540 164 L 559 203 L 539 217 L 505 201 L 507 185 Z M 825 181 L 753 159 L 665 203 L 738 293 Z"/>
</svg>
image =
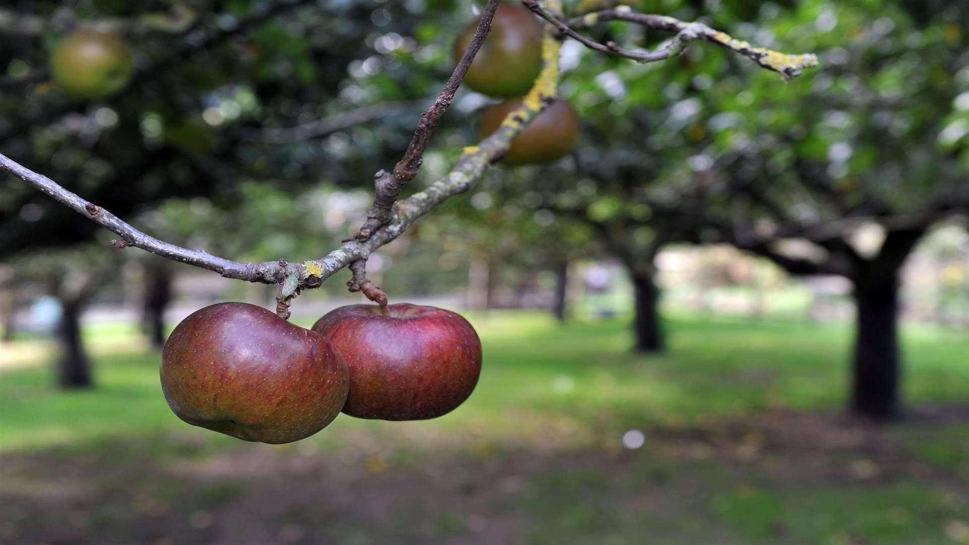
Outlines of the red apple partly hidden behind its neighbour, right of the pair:
<svg viewBox="0 0 969 545">
<path fill-rule="evenodd" d="M 341 306 L 313 331 L 350 369 L 343 412 L 358 418 L 424 420 L 468 399 L 482 370 L 482 343 L 459 314 L 434 306 Z"/>
</svg>

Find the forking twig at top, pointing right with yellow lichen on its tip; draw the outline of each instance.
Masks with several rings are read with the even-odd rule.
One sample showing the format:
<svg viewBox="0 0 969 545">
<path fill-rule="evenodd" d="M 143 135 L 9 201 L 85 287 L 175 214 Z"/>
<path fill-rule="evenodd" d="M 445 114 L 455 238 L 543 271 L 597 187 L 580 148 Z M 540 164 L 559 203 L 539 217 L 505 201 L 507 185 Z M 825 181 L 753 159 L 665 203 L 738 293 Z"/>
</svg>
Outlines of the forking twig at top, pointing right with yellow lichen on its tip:
<svg viewBox="0 0 969 545">
<path fill-rule="evenodd" d="M 753 60 L 767 70 L 777 72 L 785 81 L 800 76 L 801 71 L 805 68 L 814 68 L 818 66 L 818 57 L 813 53 L 792 55 L 774 51 L 772 49 L 755 48 L 747 42 L 735 40 L 729 34 L 714 30 L 700 22 L 684 22 L 671 16 L 637 14 L 630 10 L 628 6 L 620 6 L 613 10 L 593 12 L 584 16 L 575 17 L 570 19 L 568 22 L 563 22 L 543 9 L 542 6 L 539 5 L 538 0 L 521 0 L 521 2 L 536 15 L 545 18 L 548 22 L 554 25 L 559 32 L 569 36 L 570 38 L 578 40 L 578 42 L 580 42 L 586 48 L 595 49 L 610 55 L 633 59 L 641 63 L 656 62 L 674 57 L 683 52 L 683 49 L 686 48 L 690 42 L 693 42 L 694 40 L 705 40 L 718 46 L 732 49 L 735 52 Z M 670 32 L 675 32 L 676 36 L 656 50 L 631 51 L 629 49 L 620 48 L 615 42 L 607 42 L 606 44 L 594 42 L 574 30 L 575 27 L 589 27 L 597 22 L 609 20 L 624 20 L 627 22 L 640 24 L 646 28 L 667 30 Z"/>
</svg>

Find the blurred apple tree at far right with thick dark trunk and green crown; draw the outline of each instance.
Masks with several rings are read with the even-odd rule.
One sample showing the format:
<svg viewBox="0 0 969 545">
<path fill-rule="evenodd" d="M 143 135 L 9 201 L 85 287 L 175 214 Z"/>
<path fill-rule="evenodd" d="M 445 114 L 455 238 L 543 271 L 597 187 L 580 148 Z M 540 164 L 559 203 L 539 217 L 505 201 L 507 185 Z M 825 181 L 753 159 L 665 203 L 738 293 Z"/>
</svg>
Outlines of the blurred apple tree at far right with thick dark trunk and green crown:
<svg viewBox="0 0 969 545">
<path fill-rule="evenodd" d="M 690 160 L 664 175 L 665 192 L 641 194 L 656 210 L 697 218 L 705 240 L 792 274 L 850 280 L 850 409 L 878 420 L 902 409 L 900 271 L 934 225 L 969 209 L 967 14 L 922 7 L 770 10 L 762 32 L 824 51 L 826 70 L 783 87 L 758 75 L 741 84 L 726 65 L 711 72 L 689 103 Z"/>
</svg>

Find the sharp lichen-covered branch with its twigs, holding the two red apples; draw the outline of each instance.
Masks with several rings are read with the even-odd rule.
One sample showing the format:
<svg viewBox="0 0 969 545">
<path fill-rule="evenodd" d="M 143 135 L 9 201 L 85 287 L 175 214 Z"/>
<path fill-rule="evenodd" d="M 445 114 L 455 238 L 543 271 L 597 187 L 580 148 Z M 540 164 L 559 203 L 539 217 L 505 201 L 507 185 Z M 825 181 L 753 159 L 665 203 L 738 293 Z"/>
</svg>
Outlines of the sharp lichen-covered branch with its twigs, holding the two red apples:
<svg viewBox="0 0 969 545">
<path fill-rule="evenodd" d="M 302 1 L 305 0 L 291 0 L 294 4 Z M 442 103 L 443 108 L 436 110 L 433 114 L 425 112 L 425 115 L 422 117 L 422 122 L 431 121 L 431 123 L 429 125 L 424 123 L 416 131 L 415 140 L 412 142 L 412 150 L 414 152 L 405 154 L 405 159 L 402 159 L 402 163 L 398 164 L 398 166 L 403 166 L 400 169 L 395 169 L 394 174 L 384 172 L 378 174 L 378 181 L 381 179 L 384 179 L 384 181 L 392 179 L 391 185 L 393 187 L 391 189 L 395 188 L 396 192 L 381 192 L 378 189 L 375 208 L 377 207 L 377 201 L 379 199 L 380 209 L 376 216 L 371 216 L 371 219 L 374 219 L 374 221 L 368 221 L 365 224 L 364 227 L 367 229 L 365 236 L 358 236 L 352 240 L 345 241 L 345 243 L 318 260 L 301 262 L 278 260 L 264 263 L 239 263 L 211 255 L 203 250 L 183 248 L 142 233 L 134 226 L 112 214 L 109 210 L 87 202 L 75 193 L 58 185 L 47 176 L 35 173 L 2 154 L 0 154 L 0 170 L 20 177 L 29 185 L 44 192 L 52 199 L 68 208 L 74 209 L 95 223 L 117 234 L 120 240 L 115 240 L 115 246 L 119 248 L 136 246 L 168 259 L 209 271 L 219 272 L 229 278 L 267 284 L 279 284 L 279 306 L 277 310 L 280 315 L 286 315 L 288 314 L 290 301 L 300 290 L 319 287 L 329 276 L 352 264 L 359 264 L 353 265 L 355 268 L 355 280 L 357 280 L 354 287 L 363 290 L 364 286 L 361 285 L 365 279 L 363 267 L 366 259 L 376 248 L 399 237 L 423 214 L 437 207 L 448 198 L 474 187 L 488 166 L 501 159 L 508 151 L 517 134 L 528 122 L 545 109 L 549 101 L 554 99 L 559 80 L 558 59 L 561 48 L 559 38 L 562 34 L 576 38 L 589 48 L 604 50 L 610 54 L 628 56 L 641 62 L 669 58 L 678 54 L 688 42 L 704 39 L 748 56 L 762 66 L 779 72 L 785 79 L 797 76 L 802 68 L 817 65 L 817 57 L 814 55 L 786 55 L 769 49 L 754 48 L 746 42 L 737 41 L 727 34 L 715 31 L 701 23 L 686 23 L 668 16 L 634 14 L 628 9 L 615 9 L 581 16 L 568 21 L 568 24 L 566 24 L 557 15 L 553 15 L 560 13 L 561 10 L 561 3 L 557 0 L 548 0 L 544 3 L 545 8 L 540 6 L 536 0 L 522 1 L 533 12 L 547 18 L 554 28 L 549 26 L 545 29 L 542 39 L 544 66 L 532 88 L 521 101 L 521 104 L 510 112 L 498 128 L 481 143 L 465 147 L 454 164 L 453 169 L 446 176 L 443 176 L 411 197 L 397 201 L 396 197 L 397 193 L 399 193 L 400 185 L 406 179 L 413 177 L 413 174 L 416 174 L 417 168 L 420 166 L 423 148 L 433 131 L 433 124 L 436 123 L 437 118 L 440 117 L 440 114 L 443 113 L 447 106 Z M 494 0 L 489 0 L 488 2 L 488 9 L 492 13 L 496 4 L 497 2 Z M 613 43 L 603 45 L 592 42 L 579 35 L 572 28 L 573 26 L 588 26 L 599 21 L 610 19 L 636 22 L 649 28 L 675 31 L 677 34 L 664 48 L 655 51 L 638 52 L 626 51 Z M 486 26 L 487 24 L 484 25 L 484 27 Z M 480 28 L 480 30 L 483 30 L 486 34 L 486 28 Z M 481 41 L 483 40 L 484 37 L 480 37 L 478 47 L 480 47 Z M 469 51 L 470 49 L 469 47 Z M 468 51 L 466 51 L 465 56 L 468 56 Z M 470 56 L 473 57 L 473 51 Z M 462 63 L 465 60 L 462 58 Z M 469 63 L 470 60 L 464 64 Z M 464 66 L 464 70 L 466 71 L 466 66 Z M 456 85 L 453 85 L 455 78 L 459 82 L 463 78 L 463 72 L 455 69 L 452 80 L 449 80 L 445 90 L 442 90 L 441 95 L 439 95 L 439 100 L 443 100 L 444 103 L 450 104 L 453 92 L 448 91 L 448 89 L 456 88 Z M 446 91 L 451 94 L 449 95 Z M 396 176 L 398 174 L 401 175 L 399 179 Z M 361 231 L 363 231 L 363 228 L 361 228 Z M 377 298 L 379 301 L 381 299 L 380 295 L 383 292 L 379 292 L 379 288 L 373 286 L 372 282 L 368 280 L 367 282 L 364 293 L 366 294 L 369 291 L 368 297 L 373 296 L 371 299 Z"/>
</svg>

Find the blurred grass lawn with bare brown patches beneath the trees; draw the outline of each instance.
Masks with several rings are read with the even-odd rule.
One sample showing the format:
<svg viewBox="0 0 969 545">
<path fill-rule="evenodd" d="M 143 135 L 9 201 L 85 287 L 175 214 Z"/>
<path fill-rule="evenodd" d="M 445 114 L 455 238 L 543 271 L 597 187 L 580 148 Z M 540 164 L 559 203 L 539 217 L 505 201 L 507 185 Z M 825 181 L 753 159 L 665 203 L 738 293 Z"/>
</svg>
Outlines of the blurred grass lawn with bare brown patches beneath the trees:
<svg viewBox="0 0 969 545">
<path fill-rule="evenodd" d="M 879 428 L 840 415 L 841 327 L 678 318 L 640 356 L 626 320 L 473 322 L 452 414 L 292 445 L 183 424 L 124 328 L 87 332 L 133 347 L 96 390 L 2 371 L 0 543 L 969 543 L 965 336 L 906 329 L 913 416 Z"/>
</svg>

